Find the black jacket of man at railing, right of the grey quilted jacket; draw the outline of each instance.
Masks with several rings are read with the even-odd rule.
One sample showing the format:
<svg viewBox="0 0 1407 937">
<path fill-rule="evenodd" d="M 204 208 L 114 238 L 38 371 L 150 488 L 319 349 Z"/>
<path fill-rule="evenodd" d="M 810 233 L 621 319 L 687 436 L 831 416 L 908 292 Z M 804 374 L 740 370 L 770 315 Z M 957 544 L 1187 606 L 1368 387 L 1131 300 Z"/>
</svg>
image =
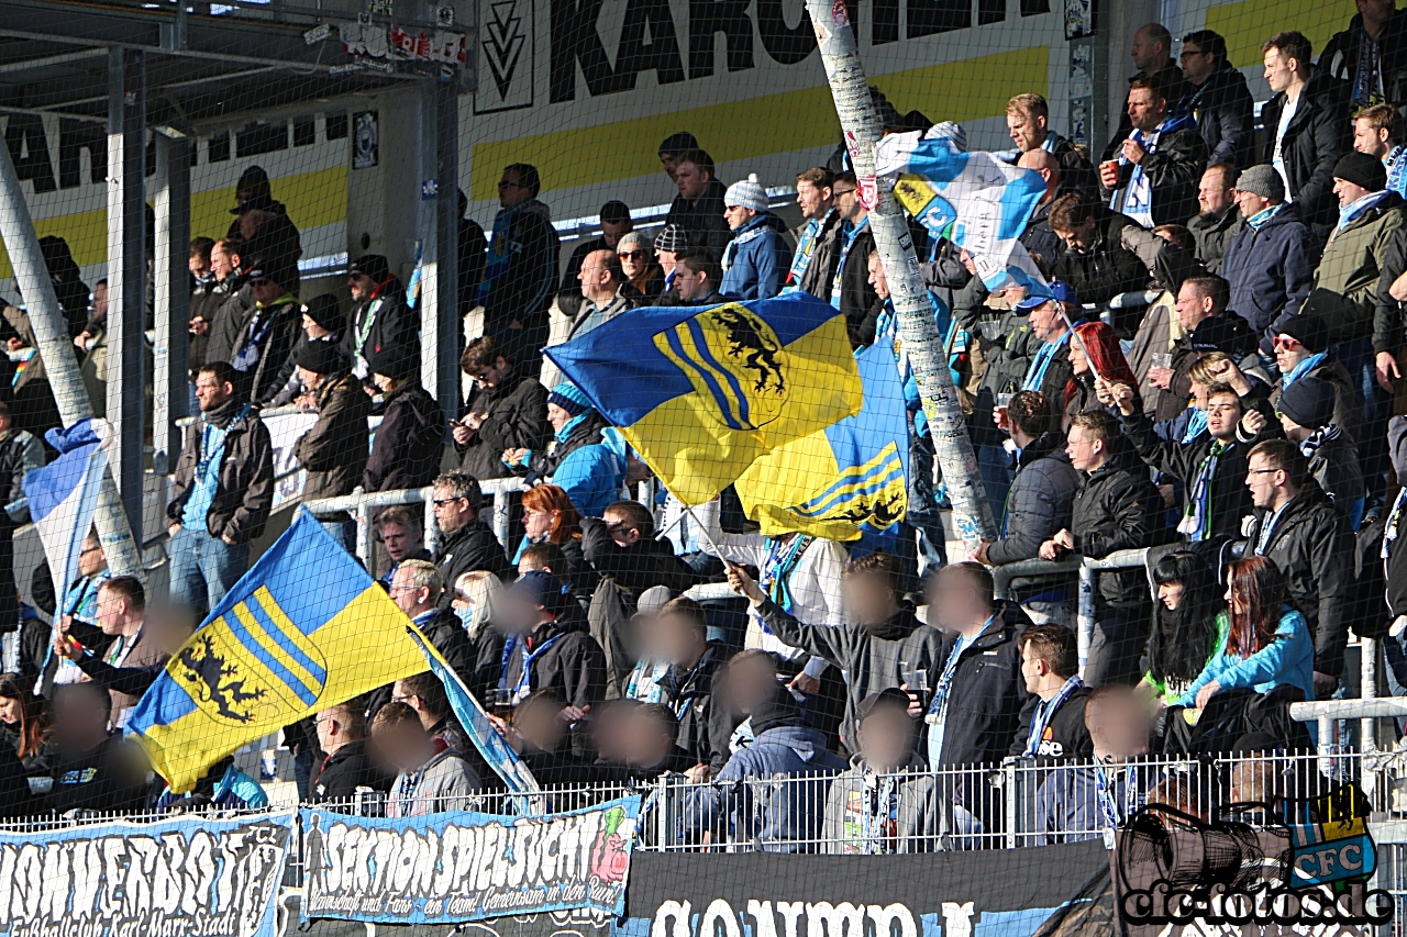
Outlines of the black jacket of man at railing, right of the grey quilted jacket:
<svg viewBox="0 0 1407 937">
<path fill-rule="evenodd" d="M 1113 457 L 1086 474 L 1075 492 L 1069 528 L 1075 550 L 1102 560 L 1116 550 L 1152 546 L 1161 529 L 1162 495 L 1148 480 L 1148 470 L 1116 445 Z M 1148 602 L 1142 568 L 1107 570 L 1096 578 L 1102 605 L 1137 608 Z"/>
</svg>

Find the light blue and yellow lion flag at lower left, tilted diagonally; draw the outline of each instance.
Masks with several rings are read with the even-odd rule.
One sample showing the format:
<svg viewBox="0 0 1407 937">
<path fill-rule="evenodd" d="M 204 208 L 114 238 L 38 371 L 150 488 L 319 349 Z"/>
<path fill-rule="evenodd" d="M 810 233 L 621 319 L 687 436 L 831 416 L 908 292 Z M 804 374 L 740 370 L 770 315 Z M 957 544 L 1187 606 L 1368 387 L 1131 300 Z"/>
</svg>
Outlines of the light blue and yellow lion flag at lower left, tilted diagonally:
<svg viewBox="0 0 1407 937">
<path fill-rule="evenodd" d="M 172 657 L 127 729 L 173 791 L 319 709 L 426 670 L 405 613 L 298 512 Z"/>
</svg>

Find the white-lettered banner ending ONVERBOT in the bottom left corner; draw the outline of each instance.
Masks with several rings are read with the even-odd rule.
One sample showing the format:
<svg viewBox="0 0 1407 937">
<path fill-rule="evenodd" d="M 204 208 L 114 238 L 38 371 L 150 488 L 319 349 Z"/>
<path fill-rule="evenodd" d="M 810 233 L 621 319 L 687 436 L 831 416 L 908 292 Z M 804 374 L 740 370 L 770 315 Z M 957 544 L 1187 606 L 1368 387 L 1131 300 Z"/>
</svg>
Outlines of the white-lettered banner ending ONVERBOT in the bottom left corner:
<svg viewBox="0 0 1407 937">
<path fill-rule="evenodd" d="M 293 813 L 0 834 L 4 937 L 274 937 Z"/>
</svg>

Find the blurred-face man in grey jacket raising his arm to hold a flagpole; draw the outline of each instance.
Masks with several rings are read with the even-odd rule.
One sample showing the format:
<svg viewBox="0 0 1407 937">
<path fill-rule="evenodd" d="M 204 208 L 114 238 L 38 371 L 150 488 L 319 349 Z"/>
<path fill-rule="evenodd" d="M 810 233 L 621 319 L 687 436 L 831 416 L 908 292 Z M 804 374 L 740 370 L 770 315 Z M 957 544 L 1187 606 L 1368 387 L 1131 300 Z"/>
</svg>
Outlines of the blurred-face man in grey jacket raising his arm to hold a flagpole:
<svg viewBox="0 0 1407 937">
<path fill-rule="evenodd" d="M 846 673 L 840 739 L 850 751 L 858 750 L 855 718 L 861 701 L 900 687 L 906 674 L 927 674 L 943 647 L 943 633 L 919 622 L 913 609 L 900 605 L 902 575 L 899 559 L 888 553 L 851 560 L 840 584 L 847 620 L 843 625 L 802 625 L 768 599 L 747 573 L 729 566 L 729 582 L 751 599 L 772 635 Z"/>
</svg>

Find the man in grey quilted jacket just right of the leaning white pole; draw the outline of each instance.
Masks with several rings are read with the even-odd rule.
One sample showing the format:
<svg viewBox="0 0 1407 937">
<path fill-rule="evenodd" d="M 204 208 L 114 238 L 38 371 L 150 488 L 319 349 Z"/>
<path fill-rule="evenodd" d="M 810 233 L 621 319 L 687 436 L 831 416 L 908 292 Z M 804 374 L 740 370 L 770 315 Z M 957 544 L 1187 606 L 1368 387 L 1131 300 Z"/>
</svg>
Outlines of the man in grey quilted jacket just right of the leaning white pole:
<svg viewBox="0 0 1407 937">
<path fill-rule="evenodd" d="M 1069 526 L 1079 473 L 1065 454 L 1065 436 L 1052 429 L 1051 408 L 1038 391 L 1021 391 L 1006 409 L 1006 428 L 1020 456 L 1002 518 L 1000 537 L 985 540 L 976 559 L 988 566 L 1036 559 L 1041 542 Z M 1037 625 L 1069 623 L 1068 589 L 1059 580 L 1017 580 L 1021 605 Z"/>
</svg>

